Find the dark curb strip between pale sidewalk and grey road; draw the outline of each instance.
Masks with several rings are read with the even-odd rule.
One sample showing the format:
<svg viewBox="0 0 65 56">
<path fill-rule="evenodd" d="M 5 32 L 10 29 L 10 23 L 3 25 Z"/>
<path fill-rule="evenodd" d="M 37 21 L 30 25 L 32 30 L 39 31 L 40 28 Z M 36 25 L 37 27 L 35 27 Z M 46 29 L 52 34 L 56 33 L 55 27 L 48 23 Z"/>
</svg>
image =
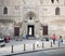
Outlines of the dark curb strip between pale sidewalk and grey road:
<svg viewBox="0 0 65 56">
<path fill-rule="evenodd" d="M 20 55 L 20 54 L 35 53 L 35 52 L 41 52 L 41 51 L 51 51 L 51 50 L 62 50 L 62 48 L 65 48 L 65 47 L 54 47 L 54 48 L 36 50 L 36 51 L 28 51 L 28 52 L 9 54 L 9 55 L 3 55 L 3 56 L 13 56 L 13 55 Z"/>
</svg>

